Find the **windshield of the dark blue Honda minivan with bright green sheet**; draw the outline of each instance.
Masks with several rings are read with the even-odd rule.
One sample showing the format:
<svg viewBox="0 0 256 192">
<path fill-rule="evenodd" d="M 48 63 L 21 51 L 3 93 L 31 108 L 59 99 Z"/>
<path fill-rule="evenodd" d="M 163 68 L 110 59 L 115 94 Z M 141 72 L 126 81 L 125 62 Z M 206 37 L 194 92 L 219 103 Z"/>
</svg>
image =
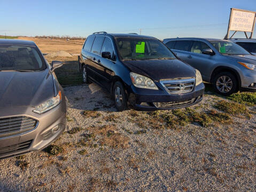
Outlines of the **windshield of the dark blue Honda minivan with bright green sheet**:
<svg viewBox="0 0 256 192">
<path fill-rule="evenodd" d="M 116 38 L 123 60 L 175 59 L 174 54 L 160 41 L 151 38 Z"/>
</svg>

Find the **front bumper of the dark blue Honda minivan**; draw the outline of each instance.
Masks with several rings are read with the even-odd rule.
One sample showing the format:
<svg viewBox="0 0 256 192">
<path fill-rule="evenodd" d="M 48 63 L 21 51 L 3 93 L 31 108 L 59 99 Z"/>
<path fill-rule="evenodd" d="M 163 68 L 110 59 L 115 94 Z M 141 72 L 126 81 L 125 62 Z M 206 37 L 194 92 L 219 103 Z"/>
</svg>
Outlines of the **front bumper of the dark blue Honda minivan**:
<svg viewBox="0 0 256 192">
<path fill-rule="evenodd" d="M 165 90 L 145 90 L 131 86 L 129 103 L 137 110 L 177 109 L 195 105 L 203 99 L 205 86 L 197 85 L 193 91 L 169 94 Z"/>
</svg>

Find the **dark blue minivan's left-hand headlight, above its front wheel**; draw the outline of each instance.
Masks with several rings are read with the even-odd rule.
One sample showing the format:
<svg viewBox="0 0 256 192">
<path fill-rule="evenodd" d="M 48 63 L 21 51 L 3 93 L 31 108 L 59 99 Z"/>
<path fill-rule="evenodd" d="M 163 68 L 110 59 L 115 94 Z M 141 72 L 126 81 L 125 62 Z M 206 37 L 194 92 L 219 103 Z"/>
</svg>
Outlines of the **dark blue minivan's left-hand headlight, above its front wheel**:
<svg viewBox="0 0 256 192">
<path fill-rule="evenodd" d="M 154 82 L 149 77 L 130 72 L 130 78 L 131 82 L 133 82 L 134 86 L 136 87 L 158 90 L 156 84 L 154 84 Z"/>
</svg>

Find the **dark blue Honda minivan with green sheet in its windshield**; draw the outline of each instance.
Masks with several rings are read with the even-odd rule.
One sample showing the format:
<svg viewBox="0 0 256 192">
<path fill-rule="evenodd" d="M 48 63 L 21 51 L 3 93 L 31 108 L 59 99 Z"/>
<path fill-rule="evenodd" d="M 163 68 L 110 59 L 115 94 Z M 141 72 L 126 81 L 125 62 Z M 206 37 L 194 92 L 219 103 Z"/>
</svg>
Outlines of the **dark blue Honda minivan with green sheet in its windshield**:
<svg viewBox="0 0 256 192">
<path fill-rule="evenodd" d="M 81 50 L 83 82 L 93 81 L 113 95 L 115 107 L 176 109 L 203 99 L 200 72 L 180 61 L 157 38 L 97 32 Z"/>
</svg>

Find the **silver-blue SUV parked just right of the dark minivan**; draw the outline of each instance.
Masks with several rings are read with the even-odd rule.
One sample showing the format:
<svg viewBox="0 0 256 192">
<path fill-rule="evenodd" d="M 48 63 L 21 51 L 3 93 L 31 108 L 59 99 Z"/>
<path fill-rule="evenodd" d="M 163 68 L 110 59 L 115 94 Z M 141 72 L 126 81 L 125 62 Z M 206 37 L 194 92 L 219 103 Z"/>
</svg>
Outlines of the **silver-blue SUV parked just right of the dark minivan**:
<svg viewBox="0 0 256 192">
<path fill-rule="evenodd" d="M 256 57 L 227 40 L 169 38 L 166 46 L 177 57 L 198 69 L 216 92 L 230 95 L 238 90 L 256 91 Z"/>
</svg>

